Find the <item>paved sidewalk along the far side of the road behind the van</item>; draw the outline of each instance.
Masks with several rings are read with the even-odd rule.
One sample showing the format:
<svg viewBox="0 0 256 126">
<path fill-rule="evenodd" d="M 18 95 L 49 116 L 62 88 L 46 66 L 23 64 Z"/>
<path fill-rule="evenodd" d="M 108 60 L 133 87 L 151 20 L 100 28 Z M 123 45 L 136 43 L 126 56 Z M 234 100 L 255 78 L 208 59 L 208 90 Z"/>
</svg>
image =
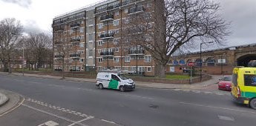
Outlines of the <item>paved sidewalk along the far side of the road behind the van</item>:
<svg viewBox="0 0 256 126">
<path fill-rule="evenodd" d="M 2 73 L 1 74 L 9 74 L 9 73 Z M 15 76 L 22 76 L 22 73 L 11 73 L 9 75 Z M 38 78 L 45 78 L 45 79 L 62 79 L 61 76 L 49 76 L 49 75 L 38 75 L 38 74 L 27 74 L 24 73 L 24 76 L 30 77 L 38 77 Z M 148 88 L 157 88 L 157 89 L 188 89 L 188 90 L 196 90 L 202 89 L 204 87 L 209 86 L 210 84 L 216 84 L 222 76 L 212 76 L 212 79 L 206 82 L 194 83 L 194 84 L 163 84 L 163 83 L 150 83 L 150 82 L 135 82 L 137 87 L 148 87 Z M 72 78 L 72 77 L 65 77 L 64 80 L 67 81 L 75 81 L 75 82 L 91 82 L 95 83 L 96 79 L 81 79 L 81 78 Z"/>
</svg>

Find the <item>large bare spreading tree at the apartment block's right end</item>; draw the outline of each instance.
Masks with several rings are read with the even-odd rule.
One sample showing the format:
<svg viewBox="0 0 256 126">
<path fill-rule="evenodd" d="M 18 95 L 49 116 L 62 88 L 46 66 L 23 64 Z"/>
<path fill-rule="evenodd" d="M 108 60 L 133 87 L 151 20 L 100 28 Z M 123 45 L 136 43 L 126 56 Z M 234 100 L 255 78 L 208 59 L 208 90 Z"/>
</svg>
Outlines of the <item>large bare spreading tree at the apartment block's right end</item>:
<svg viewBox="0 0 256 126">
<path fill-rule="evenodd" d="M 221 44 L 229 36 L 230 24 L 219 10 L 220 4 L 211 0 L 154 0 L 154 11 L 129 16 L 123 31 L 131 45 L 151 53 L 155 75 L 163 78 L 165 64 L 181 46 L 198 41 Z"/>
</svg>

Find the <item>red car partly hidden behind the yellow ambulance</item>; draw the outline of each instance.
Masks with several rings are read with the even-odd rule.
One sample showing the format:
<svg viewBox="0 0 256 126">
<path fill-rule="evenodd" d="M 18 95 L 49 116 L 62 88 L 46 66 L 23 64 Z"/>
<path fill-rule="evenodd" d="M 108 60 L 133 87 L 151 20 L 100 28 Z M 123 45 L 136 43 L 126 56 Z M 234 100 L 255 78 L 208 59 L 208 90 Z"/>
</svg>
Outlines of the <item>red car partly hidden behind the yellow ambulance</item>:
<svg viewBox="0 0 256 126">
<path fill-rule="evenodd" d="M 222 79 L 220 79 L 220 82 L 218 83 L 219 90 L 229 90 L 232 89 L 232 76 L 224 76 Z"/>
</svg>

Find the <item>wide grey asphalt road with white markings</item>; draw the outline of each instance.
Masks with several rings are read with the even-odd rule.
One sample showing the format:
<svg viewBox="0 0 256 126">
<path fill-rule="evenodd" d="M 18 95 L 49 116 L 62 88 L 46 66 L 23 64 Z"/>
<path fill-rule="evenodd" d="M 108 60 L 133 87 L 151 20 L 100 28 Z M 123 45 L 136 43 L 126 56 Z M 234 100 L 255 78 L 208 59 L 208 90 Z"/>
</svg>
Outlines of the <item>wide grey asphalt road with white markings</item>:
<svg viewBox="0 0 256 126">
<path fill-rule="evenodd" d="M 22 94 L 1 125 L 252 125 L 256 110 L 226 94 L 190 90 L 99 90 L 95 84 L 0 74 L 0 88 Z"/>
</svg>

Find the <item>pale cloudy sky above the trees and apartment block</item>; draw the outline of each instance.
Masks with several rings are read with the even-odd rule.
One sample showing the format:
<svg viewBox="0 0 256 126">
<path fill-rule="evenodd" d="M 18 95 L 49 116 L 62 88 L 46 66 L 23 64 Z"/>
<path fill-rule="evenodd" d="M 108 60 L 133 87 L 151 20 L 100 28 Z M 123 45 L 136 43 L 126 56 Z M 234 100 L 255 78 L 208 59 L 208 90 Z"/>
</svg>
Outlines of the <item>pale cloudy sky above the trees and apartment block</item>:
<svg viewBox="0 0 256 126">
<path fill-rule="evenodd" d="M 102 0 L 0 0 L 0 20 L 16 18 L 26 33 L 50 32 L 55 16 Z M 256 44 L 256 0 L 214 0 L 220 2 L 223 18 L 231 21 L 227 46 Z"/>
</svg>

